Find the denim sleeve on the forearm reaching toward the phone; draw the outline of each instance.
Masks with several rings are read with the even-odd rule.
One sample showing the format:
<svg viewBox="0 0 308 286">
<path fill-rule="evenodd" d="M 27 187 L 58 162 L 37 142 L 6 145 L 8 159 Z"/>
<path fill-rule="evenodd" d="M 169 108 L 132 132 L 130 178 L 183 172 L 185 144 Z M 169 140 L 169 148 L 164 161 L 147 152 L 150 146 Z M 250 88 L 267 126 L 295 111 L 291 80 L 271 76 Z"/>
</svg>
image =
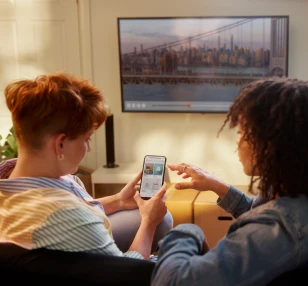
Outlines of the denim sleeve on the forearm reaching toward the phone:
<svg viewBox="0 0 308 286">
<path fill-rule="evenodd" d="M 238 218 L 241 214 L 251 209 L 253 198 L 245 195 L 239 189 L 230 186 L 227 194 L 221 200 L 218 198 L 217 204 L 226 212 Z"/>
</svg>

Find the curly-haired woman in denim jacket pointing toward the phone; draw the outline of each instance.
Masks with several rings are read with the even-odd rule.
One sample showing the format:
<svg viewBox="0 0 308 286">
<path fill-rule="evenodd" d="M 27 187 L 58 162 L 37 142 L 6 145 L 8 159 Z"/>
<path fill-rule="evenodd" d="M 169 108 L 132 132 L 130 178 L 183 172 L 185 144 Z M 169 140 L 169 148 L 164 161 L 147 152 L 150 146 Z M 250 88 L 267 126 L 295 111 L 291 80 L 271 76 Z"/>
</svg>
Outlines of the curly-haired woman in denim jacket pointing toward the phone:
<svg viewBox="0 0 308 286">
<path fill-rule="evenodd" d="M 245 86 L 219 130 L 238 127 L 238 156 L 258 183 L 255 199 L 194 165 L 169 165 L 212 190 L 236 218 L 209 249 L 202 230 L 182 224 L 160 242 L 153 285 L 266 285 L 308 262 L 308 82 L 270 78 Z M 207 219 L 206 217 L 204 218 Z"/>
</svg>

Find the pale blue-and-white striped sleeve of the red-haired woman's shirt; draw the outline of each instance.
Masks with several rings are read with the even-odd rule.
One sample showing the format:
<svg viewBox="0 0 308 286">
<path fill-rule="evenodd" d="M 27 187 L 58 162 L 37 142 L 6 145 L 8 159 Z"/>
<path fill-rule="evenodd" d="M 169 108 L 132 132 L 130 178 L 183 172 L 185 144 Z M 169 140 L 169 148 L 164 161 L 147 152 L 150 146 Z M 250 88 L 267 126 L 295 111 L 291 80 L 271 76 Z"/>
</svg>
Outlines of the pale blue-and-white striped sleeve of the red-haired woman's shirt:
<svg viewBox="0 0 308 286">
<path fill-rule="evenodd" d="M 144 259 L 139 252 L 120 251 L 101 218 L 84 208 L 64 208 L 52 213 L 34 230 L 32 238 L 34 248 Z"/>
</svg>

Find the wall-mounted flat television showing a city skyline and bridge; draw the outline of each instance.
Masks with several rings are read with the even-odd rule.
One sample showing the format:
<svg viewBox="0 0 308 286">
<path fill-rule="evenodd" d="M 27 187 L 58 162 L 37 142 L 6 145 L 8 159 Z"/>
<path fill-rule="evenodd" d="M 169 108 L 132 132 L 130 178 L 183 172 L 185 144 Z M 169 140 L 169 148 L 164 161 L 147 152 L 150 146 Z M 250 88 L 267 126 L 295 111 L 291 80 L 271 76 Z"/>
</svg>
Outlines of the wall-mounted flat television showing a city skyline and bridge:
<svg viewBox="0 0 308 286">
<path fill-rule="evenodd" d="M 289 16 L 118 18 L 123 112 L 225 113 L 288 76 Z"/>
</svg>

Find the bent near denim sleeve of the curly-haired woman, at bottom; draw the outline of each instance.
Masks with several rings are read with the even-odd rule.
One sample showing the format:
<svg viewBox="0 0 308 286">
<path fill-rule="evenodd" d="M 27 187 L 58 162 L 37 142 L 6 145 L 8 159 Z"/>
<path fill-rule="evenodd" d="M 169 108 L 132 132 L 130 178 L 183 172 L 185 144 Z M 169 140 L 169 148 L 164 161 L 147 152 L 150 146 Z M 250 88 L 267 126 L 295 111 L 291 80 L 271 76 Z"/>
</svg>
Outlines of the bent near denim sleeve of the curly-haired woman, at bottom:
<svg viewBox="0 0 308 286">
<path fill-rule="evenodd" d="M 252 214 L 202 254 L 200 228 L 178 225 L 160 243 L 151 285 L 267 285 L 298 263 L 297 238 L 290 227 L 281 226 L 275 211 Z"/>
</svg>

